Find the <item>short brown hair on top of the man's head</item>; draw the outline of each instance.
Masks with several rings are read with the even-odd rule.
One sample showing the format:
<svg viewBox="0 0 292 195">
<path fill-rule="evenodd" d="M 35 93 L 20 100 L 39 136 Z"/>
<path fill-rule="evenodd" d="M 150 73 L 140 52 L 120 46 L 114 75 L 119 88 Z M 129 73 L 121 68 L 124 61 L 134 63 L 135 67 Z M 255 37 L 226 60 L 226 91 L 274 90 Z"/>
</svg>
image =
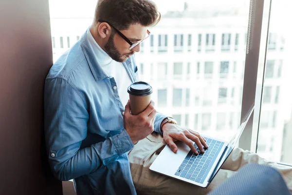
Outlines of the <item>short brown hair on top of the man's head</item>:
<svg viewBox="0 0 292 195">
<path fill-rule="evenodd" d="M 129 25 L 155 26 L 161 19 L 156 4 L 151 0 L 98 0 L 94 24 L 106 20 L 118 30 Z"/>
</svg>

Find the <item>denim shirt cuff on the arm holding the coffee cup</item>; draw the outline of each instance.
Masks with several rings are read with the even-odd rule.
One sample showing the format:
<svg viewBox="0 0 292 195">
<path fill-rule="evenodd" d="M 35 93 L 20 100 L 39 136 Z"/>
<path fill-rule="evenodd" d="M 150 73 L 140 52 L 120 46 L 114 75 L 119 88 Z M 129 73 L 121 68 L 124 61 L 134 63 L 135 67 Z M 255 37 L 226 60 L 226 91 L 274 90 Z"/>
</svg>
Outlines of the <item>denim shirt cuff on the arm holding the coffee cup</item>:
<svg viewBox="0 0 292 195">
<path fill-rule="evenodd" d="M 115 146 L 119 156 L 127 153 L 134 147 L 134 144 L 126 129 L 123 129 L 120 134 L 113 136 L 112 143 Z"/>
</svg>

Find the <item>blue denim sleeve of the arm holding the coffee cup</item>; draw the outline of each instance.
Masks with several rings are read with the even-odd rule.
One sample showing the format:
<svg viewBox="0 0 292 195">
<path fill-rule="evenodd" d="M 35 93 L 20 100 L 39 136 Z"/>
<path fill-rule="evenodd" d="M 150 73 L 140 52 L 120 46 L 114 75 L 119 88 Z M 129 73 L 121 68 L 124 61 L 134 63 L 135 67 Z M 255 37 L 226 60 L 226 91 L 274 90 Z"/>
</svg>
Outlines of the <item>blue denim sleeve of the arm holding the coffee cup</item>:
<svg viewBox="0 0 292 195">
<path fill-rule="evenodd" d="M 88 175 L 133 148 L 128 132 L 80 149 L 89 113 L 80 92 L 62 78 L 47 79 L 44 92 L 45 139 L 53 174 L 60 180 Z"/>
</svg>

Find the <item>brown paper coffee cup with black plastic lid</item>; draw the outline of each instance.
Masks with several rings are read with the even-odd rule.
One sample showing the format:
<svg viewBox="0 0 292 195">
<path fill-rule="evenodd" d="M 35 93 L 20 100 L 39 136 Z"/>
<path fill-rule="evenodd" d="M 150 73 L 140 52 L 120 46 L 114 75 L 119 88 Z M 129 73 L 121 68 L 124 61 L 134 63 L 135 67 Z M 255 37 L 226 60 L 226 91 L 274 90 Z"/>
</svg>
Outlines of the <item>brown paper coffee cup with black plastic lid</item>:
<svg viewBox="0 0 292 195">
<path fill-rule="evenodd" d="M 132 115 L 139 115 L 151 102 L 152 87 L 147 82 L 133 82 L 128 87 Z"/>
</svg>

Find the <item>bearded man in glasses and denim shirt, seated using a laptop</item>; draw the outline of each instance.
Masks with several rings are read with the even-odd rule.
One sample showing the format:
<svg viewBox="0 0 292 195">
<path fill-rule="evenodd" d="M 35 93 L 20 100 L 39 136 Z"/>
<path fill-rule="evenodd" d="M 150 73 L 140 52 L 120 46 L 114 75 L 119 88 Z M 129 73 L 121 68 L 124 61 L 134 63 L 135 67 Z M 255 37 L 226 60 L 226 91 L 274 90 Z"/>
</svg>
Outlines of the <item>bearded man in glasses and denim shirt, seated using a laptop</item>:
<svg viewBox="0 0 292 195">
<path fill-rule="evenodd" d="M 156 112 L 153 102 L 138 116 L 130 113 L 127 88 L 138 81 L 134 54 L 160 17 L 150 0 L 99 0 L 91 27 L 46 78 L 50 166 L 58 179 L 74 179 L 77 195 L 207 192 L 149 171 L 165 143 L 176 153 L 180 140 L 198 154 L 193 141 L 203 153 L 204 138 Z M 247 153 L 236 150 L 231 163 L 238 154 Z M 213 186 L 225 178 L 216 176 Z"/>
</svg>

